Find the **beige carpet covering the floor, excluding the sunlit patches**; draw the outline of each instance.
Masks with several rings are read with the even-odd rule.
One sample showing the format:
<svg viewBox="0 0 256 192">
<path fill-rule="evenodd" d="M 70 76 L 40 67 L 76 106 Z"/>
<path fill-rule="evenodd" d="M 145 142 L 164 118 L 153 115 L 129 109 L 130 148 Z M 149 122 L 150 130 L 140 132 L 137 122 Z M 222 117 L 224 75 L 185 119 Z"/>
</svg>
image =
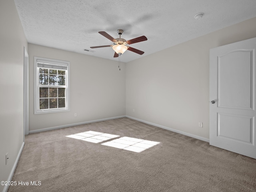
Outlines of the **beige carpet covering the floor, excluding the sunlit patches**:
<svg viewBox="0 0 256 192">
<path fill-rule="evenodd" d="M 137 153 L 66 137 L 90 130 L 160 144 Z M 120 118 L 29 134 L 12 181 L 29 182 L 15 192 L 255 192 L 256 160 Z"/>
</svg>

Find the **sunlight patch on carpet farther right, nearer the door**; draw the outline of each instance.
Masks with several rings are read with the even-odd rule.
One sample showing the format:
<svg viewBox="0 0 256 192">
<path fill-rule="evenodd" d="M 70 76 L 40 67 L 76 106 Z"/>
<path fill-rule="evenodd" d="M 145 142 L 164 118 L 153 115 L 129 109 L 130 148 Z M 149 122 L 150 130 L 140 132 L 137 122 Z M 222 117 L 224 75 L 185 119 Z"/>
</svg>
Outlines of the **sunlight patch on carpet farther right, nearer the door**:
<svg viewBox="0 0 256 192">
<path fill-rule="evenodd" d="M 137 139 L 132 137 L 121 137 L 109 142 L 102 143 L 102 145 L 140 153 L 159 143 L 160 142 Z"/>
</svg>

